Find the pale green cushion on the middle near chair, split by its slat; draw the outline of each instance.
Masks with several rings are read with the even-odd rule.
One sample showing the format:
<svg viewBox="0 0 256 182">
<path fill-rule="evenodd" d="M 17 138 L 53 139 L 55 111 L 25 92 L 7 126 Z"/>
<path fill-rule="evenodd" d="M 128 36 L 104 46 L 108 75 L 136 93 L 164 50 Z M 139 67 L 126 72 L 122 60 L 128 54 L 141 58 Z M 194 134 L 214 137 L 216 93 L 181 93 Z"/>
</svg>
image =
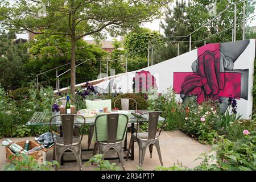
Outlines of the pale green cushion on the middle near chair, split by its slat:
<svg viewBox="0 0 256 182">
<path fill-rule="evenodd" d="M 104 113 L 98 113 L 96 114 L 96 117 L 98 115 L 102 115 Z M 104 115 L 102 117 L 98 117 L 98 119 L 95 121 L 97 126 L 97 138 L 98 141 L 107 141 L 108 140 L 108 126 L 107 126 L 107 115 Z M 125 139 L 123 137 L 123 133 L 127 130 L 127 118 L 125 115 L 120 114 L 118 118 L 118 126 L 117 126 L 117 140 Z M 96 129 L 94 127 L 93 132 L 93 142 L 96 142 Z"/>
</svg>

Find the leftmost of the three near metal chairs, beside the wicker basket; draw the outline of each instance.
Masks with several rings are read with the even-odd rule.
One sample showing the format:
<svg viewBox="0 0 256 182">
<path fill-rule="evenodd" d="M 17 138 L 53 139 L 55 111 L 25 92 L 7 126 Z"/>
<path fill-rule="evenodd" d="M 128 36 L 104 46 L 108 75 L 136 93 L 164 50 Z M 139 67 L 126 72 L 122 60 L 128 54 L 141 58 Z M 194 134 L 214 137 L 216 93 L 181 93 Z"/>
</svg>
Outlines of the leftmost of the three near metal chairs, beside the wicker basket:
<svg viewBox="0 0 256 182">
<path fill-rule="evenodd" d="M 52 122 L 52 119 L 55 117 L 61 117 L 61 125 L 63 127 L 62 137 L 53 138 L 51 122 Z M 79 170 L 82 170 L 82 154 L 81 154 L 82 134 L 80 136 L 73 137 L 73 127 L 75 126 L 74 125 L 75 117 L 82 117 L 84 119 L 84 125 L 85 125 L 85 118 L 82 115 L 60 114 L 60 115 L 55 115 L 50 119 L 49 126 L 50 126 L 51 135 L 54 142 L 55 160 L 60 163 L 61 156 L 64 154 L 64 152 L 66 150 L 71 150 L 76 156 Z M 57 170 L 56 166 L 55 166 L 55 170 Z"/>
</svg>

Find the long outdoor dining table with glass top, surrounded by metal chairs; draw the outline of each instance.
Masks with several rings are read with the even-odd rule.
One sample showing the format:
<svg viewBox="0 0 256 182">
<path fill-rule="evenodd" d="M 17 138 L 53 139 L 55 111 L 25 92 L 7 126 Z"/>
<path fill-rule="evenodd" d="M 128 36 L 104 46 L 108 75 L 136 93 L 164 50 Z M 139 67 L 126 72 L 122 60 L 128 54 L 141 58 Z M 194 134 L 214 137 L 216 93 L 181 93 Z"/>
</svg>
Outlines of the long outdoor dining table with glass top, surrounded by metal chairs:
<svg viewBox="0 0 256 182">
<path fill-rule="evenodd" d="M 111 113 L 122 113 L 122 111 L 124 111 L 123 113 L 126 113 L 126 114 L 130 113 L 130 114 L 127 114 L 127 116 L 129 118 L 128 122 L 131 123 L 131 133 L 133 134 L 133 133 L 135 133 L 134 123 L 137 122 L 138 116 L 141 115 L 142 113 L 147 112 L 148 110 L 119 110 L 119 111 L 112 111 Z M 35 112 L 32 115 L 32 117 L 28 120 L 26 125 L 28 125 L 28 126 L 49 125 L 49 120 L 51 118 L 52 118 L 51 111 Z M 95 121 L 96 117 L 85 117 L 85 119 L 86 119 L 85 125 L 94 125 L 94 121 Z M 148 114 L 144 114 L 141 118 L 139 118 L 139 122 L 144 122 L 144 121 L 148 121 Z M 164 118 L 159 116 L 159 121 L 164 121 Z M 51 124 L 60 126 L 61 125 L 60 118 L 57 117 L 57 119 L 55 119 L 55 121 L 52 121 Z M 74 124 L 75 125 L 84 125 L 84 119 L 82 119 L 81 117 L 75 117 Z M 60 135 L 61 135 L 61 133 L 60 133 Z M 93 149 L 82 149 L 82 151 L 92 151 L 92 150 Z M 127 138 L 125 139 L 124 150 L 127 151 Z M 126 156 L 124 158 L 126 158 Z M 129 158 L 131 160 L 134 160 L 134 144 L 131 147 L 131 152 L 130 152 Z M 105 158 L 105 160 L 111 160 L 111 159 L 118 159 L 118 158 Z M 86 162 L 88 160 L 89 159 L 82 159 L 83 162 Z M 62 158 L 61 164 L 63 164 L 64 162 L 66 162 L 66 163 L 76 162 L 76 160 L 63 160 L 63 158 Z"/>
</svg>

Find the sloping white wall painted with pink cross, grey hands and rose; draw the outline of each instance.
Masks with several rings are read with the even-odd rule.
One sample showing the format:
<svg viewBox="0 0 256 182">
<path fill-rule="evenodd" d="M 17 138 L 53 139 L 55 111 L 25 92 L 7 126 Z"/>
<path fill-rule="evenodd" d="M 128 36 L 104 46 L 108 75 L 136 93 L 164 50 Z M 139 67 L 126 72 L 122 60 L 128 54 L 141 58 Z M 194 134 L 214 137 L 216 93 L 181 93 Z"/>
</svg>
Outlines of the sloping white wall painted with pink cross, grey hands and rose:
<svg viewBox="0 0 256 182">
<path fill-rule="evenodd" d="M 98 92 L 166 93 L 170 86 L 177 100 L 195 97 L 220 100 L 221 110 L 228 107 L 229 97 L 237 99 L 237 113 L 251 117 L 253 107 L 253 72 L 255 39 L 213 43 L 184 53 L 162 63 L 129 72 L 95 85 Z"/>
</svg>

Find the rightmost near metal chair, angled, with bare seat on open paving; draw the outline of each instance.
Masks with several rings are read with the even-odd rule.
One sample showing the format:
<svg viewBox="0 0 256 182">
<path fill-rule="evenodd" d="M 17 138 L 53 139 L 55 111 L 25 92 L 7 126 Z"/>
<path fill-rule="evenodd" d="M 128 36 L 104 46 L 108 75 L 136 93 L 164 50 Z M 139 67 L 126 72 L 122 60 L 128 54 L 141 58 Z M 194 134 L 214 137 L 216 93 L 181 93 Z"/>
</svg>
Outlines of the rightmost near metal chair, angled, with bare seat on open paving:
<svg viewBox="0 0 256 182">
<path fill-rule="evenodd" d="M 159 160 L 160 160 L 161 165 L 163 166 L 158 137 L 159 137 L 164 125 L 165 125 L 166 117 L 165 117 L 163 125 L 162 125 L 162 127 L 159 131 L 159 134 L 156 135 L 157 130 L 158 130 L 158 119 L 159 119 L 159 114 L 160 113 L 164 113 L 164 112 L 163 111 L 149 111 L 149 112 L 143 113 L 139 116 L 139 118 L 141 118 L 142 115 L 148 114 L 148 132 L 138 133 L 138 130 L 137 130 L 136 133 L 131 134 L 131 140 L 130 140 L 130 144 L 129 144 L 129 148 L 128 148 L 128 152 L 127 152 L 126 161 L 129 157 L 131 146 L 134 145 L 134 142 L 138 142 L 138 145 L 139 145 L 139 166 L 142 166 L 142 164 L 143 164 L 143 160 L 144 160 L 144 156 L 145 156 L 145 153 L 146 153 L 146 150 L 147 150 L 147 146 L 150 150 L 150 158 L 152 158 L 153 145 L 156 147 L 156 150 L 158 151 Z M 137 119 L 137 124 L 139 122 L 139 118 Z M 138 127 L 138 125 L 137 125 L 137 127 Z"/>
</svg>

